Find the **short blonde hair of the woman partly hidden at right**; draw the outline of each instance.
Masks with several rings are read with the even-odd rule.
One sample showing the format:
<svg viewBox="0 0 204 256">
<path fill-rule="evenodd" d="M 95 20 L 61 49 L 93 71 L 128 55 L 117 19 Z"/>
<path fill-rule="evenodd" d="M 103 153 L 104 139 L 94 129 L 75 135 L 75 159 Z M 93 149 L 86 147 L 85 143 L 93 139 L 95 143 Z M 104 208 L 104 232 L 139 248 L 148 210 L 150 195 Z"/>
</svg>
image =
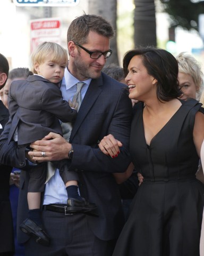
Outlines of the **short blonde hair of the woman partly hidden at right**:
<svg viewBox="0 0 204 256">
<path fill-rule="evenodd" d="M 181 52 L 177 55 L 176 60 L 179 65 L 179 72 L 192 76 L 193 81 L 198 88 L 197 91 L 199 92 L 203 82 L 201 63 L 198 62 L 191 54 L 186 52 Z"/>
</svg>

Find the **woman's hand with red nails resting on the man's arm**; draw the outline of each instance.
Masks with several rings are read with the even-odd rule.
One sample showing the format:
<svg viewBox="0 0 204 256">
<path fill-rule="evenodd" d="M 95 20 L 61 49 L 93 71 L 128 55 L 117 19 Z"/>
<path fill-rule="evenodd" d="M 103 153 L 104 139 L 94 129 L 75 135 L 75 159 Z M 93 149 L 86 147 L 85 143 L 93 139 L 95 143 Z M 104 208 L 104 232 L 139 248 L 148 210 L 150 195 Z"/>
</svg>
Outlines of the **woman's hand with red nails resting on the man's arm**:
<svg viewBox="0 0 204 256">
<path fill-rule="evenodd" d="M 100 150 L 105 155 L 109 155 L 112 158 L 115 158 L 120 154 L 120 147 L 122 146 L 122 143 L 119 140 L 116 140 L 112 134 L 105 136 L 98 144 Z"/>
</svg>

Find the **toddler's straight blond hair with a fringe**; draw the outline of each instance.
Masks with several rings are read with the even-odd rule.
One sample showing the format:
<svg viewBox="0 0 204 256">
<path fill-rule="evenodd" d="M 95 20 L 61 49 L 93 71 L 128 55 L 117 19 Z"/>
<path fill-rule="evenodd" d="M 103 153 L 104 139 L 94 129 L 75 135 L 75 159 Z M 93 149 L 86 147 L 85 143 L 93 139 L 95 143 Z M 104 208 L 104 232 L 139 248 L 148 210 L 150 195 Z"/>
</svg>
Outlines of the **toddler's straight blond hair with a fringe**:
<svg viewBox="0 0 204 256">
<path fill-rule="evenodd" d="M 53 42 L 44 42 L 38 45 L 38 47 L 31 54 L 32 71 L 37 74 L 34 68 L 36 62 L 39 64 L 44 63 L 47 55 L 52 53 L 51 61 L 56 63 L 68 63 L 68 57 L 66 50 L 59 44 Z"/>
</svg>

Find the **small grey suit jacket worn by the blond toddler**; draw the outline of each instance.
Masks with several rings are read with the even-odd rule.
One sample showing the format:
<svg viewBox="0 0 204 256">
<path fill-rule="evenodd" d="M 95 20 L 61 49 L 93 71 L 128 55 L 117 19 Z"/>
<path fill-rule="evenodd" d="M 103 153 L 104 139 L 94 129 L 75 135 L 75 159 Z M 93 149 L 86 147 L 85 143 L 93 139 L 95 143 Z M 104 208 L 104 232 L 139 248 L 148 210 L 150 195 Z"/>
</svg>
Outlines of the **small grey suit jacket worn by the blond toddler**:
<svg viewBox="0 0 204 256">
<path fill-rule="evenodd" d="M 63 100 L 58 85 L 38 75 L 12 82 L 8 109 L 12 119 L 8 142 L 18 126 L 18 145 L 40 140 L 49 132 L 62 135 L 58 119 L 72 122 L 77 117 L 77 110 Z"/>
</svg>

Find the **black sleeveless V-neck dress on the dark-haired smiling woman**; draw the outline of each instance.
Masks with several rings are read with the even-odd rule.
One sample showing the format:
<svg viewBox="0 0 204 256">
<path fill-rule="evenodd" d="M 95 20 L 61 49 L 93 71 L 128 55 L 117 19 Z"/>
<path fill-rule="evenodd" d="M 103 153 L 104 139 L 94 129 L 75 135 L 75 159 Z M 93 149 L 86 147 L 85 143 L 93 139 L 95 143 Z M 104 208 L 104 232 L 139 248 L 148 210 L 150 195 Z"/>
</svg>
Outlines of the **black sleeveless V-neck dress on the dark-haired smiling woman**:
<svg viewBox="0 0 204 256">
<path fill-rule="evenodd" d="M 199 157 L 193 143 L 199 109 L 196 100 L 182 101 L 148 146 L 143 104 L 135 106 L 130 151 L 144 180 L 113 256 L 199 256 L 204 188 L 195 176 Z"/>
</svg>

